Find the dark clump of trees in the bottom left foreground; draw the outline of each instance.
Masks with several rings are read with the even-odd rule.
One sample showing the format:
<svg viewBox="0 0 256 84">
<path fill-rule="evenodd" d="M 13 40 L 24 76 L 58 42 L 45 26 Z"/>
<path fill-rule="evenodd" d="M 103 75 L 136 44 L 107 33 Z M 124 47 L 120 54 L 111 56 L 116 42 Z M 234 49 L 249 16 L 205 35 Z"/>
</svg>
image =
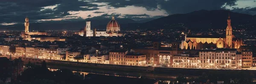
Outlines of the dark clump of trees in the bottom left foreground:
<svg viewBox="0 0 256 84">
<path fill-rule="evenodd" d="M 41 66 L 30 62 L 26 64 L 26 70 L 10 84 L 80 84 L 82 82 L 84 82 L 83 78 L 73 74 L 71 70 L 48 70 L 46 62 L 43 61 Z"/>
</svg>

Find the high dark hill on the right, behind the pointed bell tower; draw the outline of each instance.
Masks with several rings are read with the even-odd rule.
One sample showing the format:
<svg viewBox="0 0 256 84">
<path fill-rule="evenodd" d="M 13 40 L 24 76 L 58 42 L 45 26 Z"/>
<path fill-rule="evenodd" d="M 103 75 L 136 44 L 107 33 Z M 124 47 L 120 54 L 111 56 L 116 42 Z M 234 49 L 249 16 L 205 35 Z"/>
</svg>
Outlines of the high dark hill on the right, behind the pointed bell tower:
<svg viewBox="0 0 256 84">
<path fill-rule="evenodd" d="M 187 14 L 173 14 L 145 22 L 141 24 L 141 27 L 148 29 L 171 28 L 173 24 L 182 23 L 184 27 L 191 30 L 225 29 L 227 27 L 227 17 L 229 13 L 233 28 L 253 29 L 256 27 L 256 15 L 240 14 L 226 10 L 200 10 Z M 245 25 L 250 25 L 251 27 Z"/>
</svg>

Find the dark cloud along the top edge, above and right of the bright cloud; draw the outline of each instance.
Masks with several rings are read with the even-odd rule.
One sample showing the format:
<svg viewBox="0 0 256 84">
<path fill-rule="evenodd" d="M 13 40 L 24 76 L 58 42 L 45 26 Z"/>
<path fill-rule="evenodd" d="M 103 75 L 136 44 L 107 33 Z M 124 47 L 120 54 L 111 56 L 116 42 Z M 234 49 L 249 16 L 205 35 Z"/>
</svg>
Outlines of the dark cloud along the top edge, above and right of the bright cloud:
<svg viewBox="0 0 256 84">
<path fill-rule="evenodd" d="M 126 7 L 130 5 L 145 7 L 148 11 L 155 9 L 166 10 L 168 14 L 184 14 L 197 10 L 221 9 L 223 5 L 236 5 L 237 0 L 95 0 L 105 2 L 112 7 Z"/>
</svg>

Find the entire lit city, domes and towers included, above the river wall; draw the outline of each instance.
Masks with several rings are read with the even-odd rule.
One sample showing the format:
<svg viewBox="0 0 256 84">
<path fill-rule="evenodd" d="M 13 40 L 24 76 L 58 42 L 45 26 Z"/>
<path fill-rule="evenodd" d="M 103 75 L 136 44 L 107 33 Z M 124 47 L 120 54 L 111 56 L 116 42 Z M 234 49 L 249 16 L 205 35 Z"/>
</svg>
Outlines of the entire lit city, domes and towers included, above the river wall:
<svg viewBox="0 0 256 84">
<path fill-rule="evenodd" d="M 90 22 L 87 21 L 84 29 L 77 34 L 53 36 L 44 32 L 29 32 L 29 19 L 26 18 L 22 40 L 4 38 L 7 41 L 0 42 L 0 53 L 112 65 L 256 68 L 253 51 L 239 50 L 243 41 L 233 35 L 230 16 L 224 36 L 193 35 L 190 31 L 178 31 L 181 34 L 177 36 L 164 34 L 170 33 L 170 30 L 127 32 L 121 33 L 120 25 L 113 16 L 104 31 L 91 30 Z"/>
</svg>

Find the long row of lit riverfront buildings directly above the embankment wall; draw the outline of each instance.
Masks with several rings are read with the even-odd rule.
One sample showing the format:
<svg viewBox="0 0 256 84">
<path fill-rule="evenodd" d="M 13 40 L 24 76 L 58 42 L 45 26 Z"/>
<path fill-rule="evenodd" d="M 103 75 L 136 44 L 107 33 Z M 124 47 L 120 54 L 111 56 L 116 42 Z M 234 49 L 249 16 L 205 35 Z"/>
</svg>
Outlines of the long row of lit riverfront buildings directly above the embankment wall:
<svg viewBox="0 0 256 84">
<path fill-rule="evenodd" d="M 176 47 L 175 47 L 176 46 Z M 181 50 L 178 44 L 161 47 L 155 42 L 153 49 L 74 49 L 50 46 L 15 46 L 0 45 L 0 53 L 37 59 L 89 62 L 112 65 L 163 66 L 173 68 L 256 68 L 256 57 L 250 50 L 237 49 L 202 49 Z M 88 52 L 86 52 L 87 50 Z"/>
</svg>

